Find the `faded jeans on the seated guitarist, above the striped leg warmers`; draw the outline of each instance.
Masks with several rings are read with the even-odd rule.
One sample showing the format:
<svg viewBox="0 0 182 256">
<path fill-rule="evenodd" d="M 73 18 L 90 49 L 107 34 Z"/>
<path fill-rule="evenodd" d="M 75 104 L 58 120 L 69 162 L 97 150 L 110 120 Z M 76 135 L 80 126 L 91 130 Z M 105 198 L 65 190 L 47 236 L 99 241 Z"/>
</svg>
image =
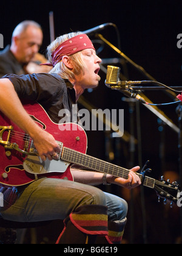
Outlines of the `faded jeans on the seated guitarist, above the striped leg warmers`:
<svg viewBox="0 0 182 256">
<path fill-rule="evenodd" d="M 77 207 L 87 204 L 106 205 L 109 221 L 120 221 L 127 215 L 127 202 L 120 197 L 69 180 L 41 178 L 16 191 L 8 190 L 0 213 L 2 218 L 12 221 L 63 220 Z M 13 204 L 9 199 L 11 193 L 17 196 Z"/>
</svg>

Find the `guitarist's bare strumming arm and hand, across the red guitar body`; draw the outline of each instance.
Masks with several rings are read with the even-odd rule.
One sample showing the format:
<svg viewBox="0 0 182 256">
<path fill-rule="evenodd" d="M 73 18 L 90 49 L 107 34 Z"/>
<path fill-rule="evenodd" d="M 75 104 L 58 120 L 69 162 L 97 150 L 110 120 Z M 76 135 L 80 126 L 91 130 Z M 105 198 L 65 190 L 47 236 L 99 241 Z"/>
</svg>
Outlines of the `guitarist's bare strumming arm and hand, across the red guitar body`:
<svg viewBox="0 0 182 256">
<path fill-rule="evenodd" d="M 41 127 L 30 118 L 9 79 L 0 79 L 0 88 L 1 112 L 30 135 L 42 160 L 45 160 L 46 157 L 52 160 L 51 155 L 55 154 L 55 152 L 60 152 L 58 143 L 56 143 L 53 136 L 42 130 Z"/>
</svg>

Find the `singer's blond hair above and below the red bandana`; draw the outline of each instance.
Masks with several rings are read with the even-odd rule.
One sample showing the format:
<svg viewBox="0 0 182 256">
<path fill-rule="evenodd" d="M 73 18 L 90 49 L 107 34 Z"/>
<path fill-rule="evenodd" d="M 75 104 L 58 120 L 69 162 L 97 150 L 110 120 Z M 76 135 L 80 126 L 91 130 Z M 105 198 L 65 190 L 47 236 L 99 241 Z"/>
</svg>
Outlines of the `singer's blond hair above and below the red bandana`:
<svg viewBox="0 0 182 256">
<path fill-rule="evenodd" d="M 76 35 L 82 34 L 81 32 L 72 32 L 66 35 L 61 35 L 60 37 L 57 37 L 55 41 L 53 41 L 48 47 L 47 47 L 47 59 L 50 63 L 52 63 L 52 52 L 55 51 L 55 49 L 64 41 L 69 40 L 72 37 L 76 37 Z M 59 74 L 63 79 L 75 79 L 75 75 L 79 75 L 83 72 L 85 63 L 83 62 L 83 59 L 81 57 L 81 52 L 77 52 L 76 54 L 70 55 L 70 60 L 73 62 L 73 69 L 70 70 L 67 68 L 66 65 L 62 62 L 58 62 L 49 72 L 49 74 Z"/>
</svg>

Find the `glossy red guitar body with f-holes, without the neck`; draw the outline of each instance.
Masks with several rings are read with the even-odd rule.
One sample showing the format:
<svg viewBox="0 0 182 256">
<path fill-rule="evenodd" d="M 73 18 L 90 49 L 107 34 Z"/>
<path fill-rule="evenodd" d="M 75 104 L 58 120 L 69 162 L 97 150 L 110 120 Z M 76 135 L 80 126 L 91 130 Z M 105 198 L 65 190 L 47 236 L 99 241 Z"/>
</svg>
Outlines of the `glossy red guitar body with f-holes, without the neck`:
<svg viewBox="0 0 182 256">
<path fill-rule="evenodd" d="M 78 124 L 53 123 L 44 108 L 39 104 L 26 104 L 24 108 L 42 129 L 53 135 L 56 141 L 60 141 L 67 148 L 86 154 L 87 135 Z M 29 159 L 29 156 L 27 157 L 27 155 L 22 154 L 22 152 L 16 149 L 9 149 L 7 145 L 7 141 L 16 143 L 20 149 L 24 150 L 24 138 L 26 138 L 25 133 L 0 112 L 0 183 L 16 187 L 30 183 L 42 176 L 73 180 L 72 173 L 70 172 L 70 163 L 61 162 L 61 160 L 59 162 L 56 160 L 46 160 L 48 162 L 46 166 L 49 163 L 53 163 L 56 172 L 52 169 L 51 171 L 48 170 L 47 173 L 39 174 L 40 172 L 38 172 L 38 175 L 34 175 L 25 171 L 24 162 Z M 32 158 L 31 156 L 29 162 Z M 54 165 L 54 162 L 56 162 L 56 165 Z M 58 172 L 58 169 L 60 169 L 60 172 Z"/>
</svg>

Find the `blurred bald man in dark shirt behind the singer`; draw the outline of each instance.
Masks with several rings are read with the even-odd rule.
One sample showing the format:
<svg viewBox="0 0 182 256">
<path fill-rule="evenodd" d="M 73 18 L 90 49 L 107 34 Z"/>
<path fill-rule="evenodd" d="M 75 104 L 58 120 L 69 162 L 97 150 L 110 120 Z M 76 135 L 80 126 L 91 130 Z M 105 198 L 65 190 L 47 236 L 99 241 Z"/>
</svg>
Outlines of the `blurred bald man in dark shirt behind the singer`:
<svg viewBox="0 0 182 256">
<path fill-rule="evenodd" d="M 0 52 L 0 77 L 5 74 L 34 73 L 27 65 L 35 59 L 43 40 L 41 26 L 35 21 L 22 21 L 15 27 L 12 43 Z M 38 70 L 40 72 L 40 70 Z"/>
</svg>

